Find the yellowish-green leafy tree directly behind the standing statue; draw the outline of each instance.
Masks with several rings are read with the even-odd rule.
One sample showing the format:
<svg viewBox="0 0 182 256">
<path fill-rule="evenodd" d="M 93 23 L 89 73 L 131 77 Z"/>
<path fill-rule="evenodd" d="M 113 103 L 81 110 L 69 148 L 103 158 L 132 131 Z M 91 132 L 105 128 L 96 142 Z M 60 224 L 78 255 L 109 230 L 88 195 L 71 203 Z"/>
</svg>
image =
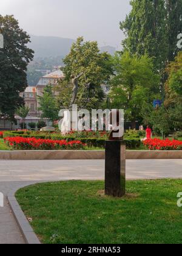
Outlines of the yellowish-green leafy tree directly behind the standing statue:
<svg viewBox="0 0 182 256">
<path fill-rule="evenodd" d="M 104 99 L 101 85 L 107 84 L 113 73 L 111 56 L 107 52 L 100 53 L 96 41 L 84 41 L 83 37 L 79 37 L 63 61 L 65 67 L 62 71 L 66 77 L 59 84 L 59 107 L 69 107 L 72 98 L 70 76 L 83 73 L 83 76 L 79 77 L 78 97 L 75 103 L 79 107 L 98 108 Z M 69 97 L 65 98 L 62 93 L 69 93 Z"/>
</svg>

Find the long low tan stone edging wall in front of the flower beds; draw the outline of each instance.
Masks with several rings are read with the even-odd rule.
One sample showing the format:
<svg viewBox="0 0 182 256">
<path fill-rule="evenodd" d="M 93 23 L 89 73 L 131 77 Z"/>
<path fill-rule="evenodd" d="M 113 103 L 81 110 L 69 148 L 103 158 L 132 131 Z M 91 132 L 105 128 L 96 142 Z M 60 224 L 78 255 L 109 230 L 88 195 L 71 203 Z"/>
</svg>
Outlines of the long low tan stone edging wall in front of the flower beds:
<svg viewBox="0 0 182 256">
<path fill-rule="evenodd" d="M 0 160 L 104 160 L 105 151 L 0 151 Z M 182 159 L 182 151 L 126 151 L 126 159 Z"/>
</svg>

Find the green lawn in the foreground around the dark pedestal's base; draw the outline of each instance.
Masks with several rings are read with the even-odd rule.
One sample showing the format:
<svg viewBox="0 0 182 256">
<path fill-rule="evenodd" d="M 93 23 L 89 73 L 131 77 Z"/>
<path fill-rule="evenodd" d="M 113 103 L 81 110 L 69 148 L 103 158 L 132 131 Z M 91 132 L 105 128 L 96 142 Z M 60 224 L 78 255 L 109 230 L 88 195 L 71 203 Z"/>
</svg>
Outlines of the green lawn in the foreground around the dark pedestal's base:
<svg viewBox="0 0 182 256">
<path fill-rule="evenodd" d="M 53 182 L 16 198 L 42 243 L 182 243 L 182 180 L 127 182 L 127 196 L 103 195 L 104 182 Z"/>
</svg>

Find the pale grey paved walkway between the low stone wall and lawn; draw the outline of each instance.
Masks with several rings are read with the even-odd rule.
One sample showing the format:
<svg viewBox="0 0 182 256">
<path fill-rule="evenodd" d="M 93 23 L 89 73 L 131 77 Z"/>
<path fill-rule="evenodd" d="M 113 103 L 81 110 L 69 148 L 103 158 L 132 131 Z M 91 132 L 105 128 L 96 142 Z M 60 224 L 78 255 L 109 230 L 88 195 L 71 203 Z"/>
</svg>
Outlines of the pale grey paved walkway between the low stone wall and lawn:
<svg viewBox="0 0 182 256">
<path fill-rule="evenodd" d="M 181 178 L 182 160 L 127 160 L 127 179 Z M 0 191 L 49 180 L 104 179 L 103 160 L 0 160 Z M 24 239 L 5 201 L 0 207 L 0 244 L 23 244 Z"/>
</svg>

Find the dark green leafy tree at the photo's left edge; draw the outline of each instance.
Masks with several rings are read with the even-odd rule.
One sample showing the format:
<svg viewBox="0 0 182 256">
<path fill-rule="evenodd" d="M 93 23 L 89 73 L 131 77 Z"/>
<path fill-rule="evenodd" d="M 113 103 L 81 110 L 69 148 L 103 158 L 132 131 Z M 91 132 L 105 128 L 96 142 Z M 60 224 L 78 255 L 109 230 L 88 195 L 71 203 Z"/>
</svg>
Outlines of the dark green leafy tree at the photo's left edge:
<svg viewBox="0 0 182 256">
<path fill-rule="evenodd" d="M 0 33 L 4 36 L 4 48 L 0 49 L 0 112 L 14 119 L 16 108 L 23 104 L 19 93 L 27 87 L 26 70 L 33 51 L 27 48 L 29 35 L 13 16 L 0 15 Z"/>
</svg>

